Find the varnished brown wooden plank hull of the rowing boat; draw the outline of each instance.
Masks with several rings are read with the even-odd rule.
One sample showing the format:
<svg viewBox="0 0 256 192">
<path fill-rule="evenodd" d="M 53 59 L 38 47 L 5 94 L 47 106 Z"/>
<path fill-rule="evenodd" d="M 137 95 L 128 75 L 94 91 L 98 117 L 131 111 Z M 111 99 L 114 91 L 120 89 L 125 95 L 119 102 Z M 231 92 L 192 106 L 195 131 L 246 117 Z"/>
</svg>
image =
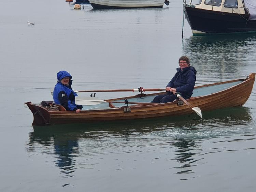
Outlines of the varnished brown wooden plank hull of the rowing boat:
<svg viewBox="0 0 256 192">
<path fill-rule="evenodd" d="M 255 73 L 252 73 L 248 79 L 244 80 L 244 82 L 242 82 L 242 79 L 228 81 L 229 83 L 241 82 L 235 86 L 212 94 L 190 98 L 187 101 L 194 107 L 199 107 L 202 112 L 225 107 L 242 106 L 247 101 L 252 92 L 254 80 Z M 225 83 L 227 82 L 198 86 L 195 87 L 195 90 Z M 148 95 L 156 95 L 156 93 Z M 128 97 L 128 99 L 129 98 L 134 97 Z M 117 99 L 112 99 L 109 101 L 113 100 Z M 155 105 L 134 105 L 130 106 L 130 112 L 124 112 L 126 107 L 121 107 L 116 109 L 82 110 L 79 114 L 76 114 L 74 111 L 49 112 L 45 108 L 39 105 L 34 105 L 31 102 L 27 102 L 26 104 L 34 115 L 34 121 L 32 125 L 142 119 L 192 113 L 192 110 L 189 106 L 186 104 L 177 105 L 177 101 Z"/>
</svg>

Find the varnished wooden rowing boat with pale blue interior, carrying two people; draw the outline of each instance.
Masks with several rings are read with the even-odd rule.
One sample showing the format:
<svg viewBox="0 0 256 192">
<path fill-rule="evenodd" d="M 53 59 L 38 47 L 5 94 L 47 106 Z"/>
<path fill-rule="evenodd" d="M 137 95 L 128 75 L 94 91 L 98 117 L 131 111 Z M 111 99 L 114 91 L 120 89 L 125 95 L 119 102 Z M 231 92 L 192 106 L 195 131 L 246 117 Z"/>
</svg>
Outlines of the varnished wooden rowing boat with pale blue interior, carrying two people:
<svg viewBox="0 0 256 192">
<path fill-rule="evenodd" d="M 251 73 L 245 79 L 197 86 L 193 91 L 193 97 L 187 102 L 200 107 L 202 111 L 242 106 L 250 97 L 254 80 L 255 73 Z M 84 105 L 78 114 L 66 111 L 61 105 L 42 106 L 31 102 L 25 104 L 33 113 L 32 125 L 142 119 L 192 113 L 191 108 L 181 100 L 162 104 L 150 103 L 156 95 L 164 93 L 141 93 L 132 97 L 105 100 L 106 102 L 96 105 Z M 128 100 L 128 104 L 124 103 L 124 99 Z"/>
</svg>

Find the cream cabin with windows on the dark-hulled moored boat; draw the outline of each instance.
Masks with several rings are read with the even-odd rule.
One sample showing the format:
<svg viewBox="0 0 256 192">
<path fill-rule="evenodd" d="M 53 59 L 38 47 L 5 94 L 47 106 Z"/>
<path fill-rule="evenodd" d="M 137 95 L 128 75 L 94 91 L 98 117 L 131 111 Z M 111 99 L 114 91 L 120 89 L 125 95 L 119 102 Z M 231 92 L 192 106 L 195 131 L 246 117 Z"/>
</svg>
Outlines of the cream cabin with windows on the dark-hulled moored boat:
<svg viewBox="0 0 256 192">
<path fill-rule="evenodd" d="M 187 4 L 186 1 L 189 0 L 183 1 Z M 190 0 L 189 5 L 204 10 L 249 14 L 249 10 L 244 5 L 244 0 Z"/>
</svg>

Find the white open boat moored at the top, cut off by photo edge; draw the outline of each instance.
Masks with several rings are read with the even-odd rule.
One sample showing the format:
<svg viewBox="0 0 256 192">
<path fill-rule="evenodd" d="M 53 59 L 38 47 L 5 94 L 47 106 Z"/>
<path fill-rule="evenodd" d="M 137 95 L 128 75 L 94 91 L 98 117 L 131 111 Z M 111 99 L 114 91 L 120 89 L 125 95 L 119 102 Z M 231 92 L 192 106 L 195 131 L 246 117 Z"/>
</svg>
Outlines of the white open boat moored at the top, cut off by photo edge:
<svg viewBox="0 0 256 192">
<path fill-rule="evenodd" d="M 162 8 L 165 0 L 88 0 L 95 9 Z M 167 2 L 167 1 L 166 1 Z M 169 3 L 169 1 L 168 1 Z"/>
</svg>

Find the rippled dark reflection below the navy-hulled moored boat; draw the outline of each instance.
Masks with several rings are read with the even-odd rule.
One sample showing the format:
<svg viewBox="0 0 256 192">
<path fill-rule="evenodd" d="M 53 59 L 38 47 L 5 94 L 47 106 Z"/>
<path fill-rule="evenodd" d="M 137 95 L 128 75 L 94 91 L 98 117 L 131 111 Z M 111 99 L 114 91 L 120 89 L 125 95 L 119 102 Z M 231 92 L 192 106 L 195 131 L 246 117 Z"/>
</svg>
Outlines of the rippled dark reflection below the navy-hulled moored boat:
<svg viewBox="0 0 256 192">
<path fill-rule="evenodd" d="M 188 55 L 193 66 L 200 69 L 197 80 L 204 78 L 203 83 L 207 83 L 208 79 L 223 81 L 243 75 L 254 65 L 255 42 L 254 34 L 190 36 L 183 40 L 182 49 L 183 55 Z"/>
</svg>

